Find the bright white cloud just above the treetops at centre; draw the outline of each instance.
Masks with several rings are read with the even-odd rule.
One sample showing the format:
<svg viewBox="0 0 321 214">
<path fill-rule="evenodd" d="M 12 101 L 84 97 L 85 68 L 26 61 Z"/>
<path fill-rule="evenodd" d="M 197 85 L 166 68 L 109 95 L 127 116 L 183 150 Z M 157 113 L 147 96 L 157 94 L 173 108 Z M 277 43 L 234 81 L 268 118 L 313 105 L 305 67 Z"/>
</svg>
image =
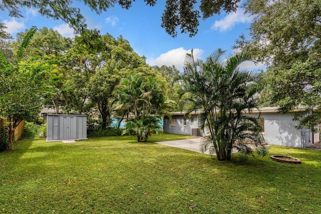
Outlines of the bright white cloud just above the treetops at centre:
<svg viewBox="0 0 321 214">
<path fill-rule="evenodd" d="M 204 51 L 202 49 L 193 49 L 193 55 L 195 58 L 201 58 L 203 52 Z M 150 59 L 150 60 L 147 59 L 147 63 L 151 66 L 175 65 L 177 69 L 179 69 L 180 71 L 183 71 L 186 53 L 191 53 L 191 49 L 185 50 L 182 47 L 173 49 L 168 51 L 167 53 L 161 54 L 156 59 Z"/>
</svg>

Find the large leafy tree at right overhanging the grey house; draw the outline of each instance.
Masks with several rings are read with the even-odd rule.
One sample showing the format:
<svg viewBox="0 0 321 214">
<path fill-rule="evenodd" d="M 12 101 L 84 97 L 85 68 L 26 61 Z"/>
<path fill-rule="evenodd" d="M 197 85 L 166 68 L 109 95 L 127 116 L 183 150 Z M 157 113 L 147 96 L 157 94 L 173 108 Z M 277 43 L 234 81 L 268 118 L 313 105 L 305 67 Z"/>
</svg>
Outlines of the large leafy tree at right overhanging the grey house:
<svg viewBox="0 0 321 214">
<path fill-rule="evenodd" d="M 264 102 L 282 113 L 306 106 L 298 127 L 314 130 L 321 121 L 321 2 L 249 0 L 246 12 L 254 17 L 251 38 L 242 35 L 235 48 L 267 64 Z"/>
</svg>

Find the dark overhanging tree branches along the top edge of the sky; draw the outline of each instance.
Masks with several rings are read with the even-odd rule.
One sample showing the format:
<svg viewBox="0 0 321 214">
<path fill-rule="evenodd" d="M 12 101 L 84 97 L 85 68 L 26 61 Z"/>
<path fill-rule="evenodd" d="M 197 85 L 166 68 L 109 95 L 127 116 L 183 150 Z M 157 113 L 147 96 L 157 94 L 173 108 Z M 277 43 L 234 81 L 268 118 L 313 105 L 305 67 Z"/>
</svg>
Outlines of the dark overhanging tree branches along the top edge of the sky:
<svg viewBox="0 0 321 214">
<path fill-rule="evenodd" d="M 103 0 L 103 1 L 80 1 L 97 14 L 101 14 L 115 4 L 124 9 L 129 9 L 135 0 Z M 146 5 L 154 6 L 156 0 L 144 0 Z M 166 9 L 162 16 L 162 27 L 171 36 L 177 35 L 177 27 L 180 27 L 182 33 L 189 33 L 194 36 L 198 32 L 200 12 L 203 19 L 207 19 L 214 14 L 220 14 L 221 10 L 227 13 L 235 12 L 240 0 L 202 0 L 199 10 L 195 10 L 199 3 L 196 0 L 167 0 Z M 85 19 L 80 13 L 79 8 L 72 5 L 72 1 L 66 0 L 48 0 L 48 1 L 20 1 L 20 0 L 1 0 L 0 10 L 8 10 L 11 17 L 22 17 L 21 8 L 35 8 L 38 12 L 49 18 L 60 19 L 70 24 L 76 31 L 82 32 L 86 29 Z M 90 41 L 89 38 L 87 38 Z"/>
</svg>

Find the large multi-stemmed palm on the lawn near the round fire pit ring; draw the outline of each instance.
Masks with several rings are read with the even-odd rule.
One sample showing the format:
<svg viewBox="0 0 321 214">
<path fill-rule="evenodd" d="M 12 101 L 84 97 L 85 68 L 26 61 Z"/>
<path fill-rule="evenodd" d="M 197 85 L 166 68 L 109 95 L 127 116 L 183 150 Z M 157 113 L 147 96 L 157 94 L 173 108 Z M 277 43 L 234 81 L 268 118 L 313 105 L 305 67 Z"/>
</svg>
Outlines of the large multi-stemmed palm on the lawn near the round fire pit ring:
<svg viewBox="0 0 321 214">
<path fill-rule="evenodd" d="M 262 76 L 238 67 L 253 61 L 250 55 L 236 53 L 224 61 L 224 53 L 218 49 L 205 62 L 195 60 L 193 52 L 187 54 L 184 73 L 177 78 L 182 80 L 180 94 L 190 94 L 189 113 L 203 110 L 201 128 L 208 128 L 210 136 L 203 140 L 201 151 L 209 149 L 218 160 L 230 160 L 232 149 L 248 155 L 253 146 L 266 155 L 259 118 L 243 114 L 257 108 L 255 94 L 262 90 Z"/>
</svg>

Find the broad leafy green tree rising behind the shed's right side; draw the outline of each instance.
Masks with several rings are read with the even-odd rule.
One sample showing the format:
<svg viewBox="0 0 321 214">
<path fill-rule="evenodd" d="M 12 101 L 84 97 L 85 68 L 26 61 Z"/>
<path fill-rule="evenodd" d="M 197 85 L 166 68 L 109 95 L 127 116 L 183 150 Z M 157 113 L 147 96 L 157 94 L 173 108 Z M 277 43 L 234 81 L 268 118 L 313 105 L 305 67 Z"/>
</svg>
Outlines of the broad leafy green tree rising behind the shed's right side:
<svg viewBox="0 0 321 214">
<path fill-rule="evenodd" d="M 86 106 L 95 106 L 102 118 L 102 128 L 106 128 L 112 105 L 117 101 L 113 90 L 121 78 L 130 72 L 141 72 L 158 79 L 161 75 L 153 71 L 145 58 L 138 56 L 121 36 L 115 39 L 109 34 L 93 33 L 88 34 L 92 36 L 91 43 L 76 37 L 67 53 L 72 65 L 67 98 L 69 108 L 79 113 L 84 112 Z"/>
</svg>

